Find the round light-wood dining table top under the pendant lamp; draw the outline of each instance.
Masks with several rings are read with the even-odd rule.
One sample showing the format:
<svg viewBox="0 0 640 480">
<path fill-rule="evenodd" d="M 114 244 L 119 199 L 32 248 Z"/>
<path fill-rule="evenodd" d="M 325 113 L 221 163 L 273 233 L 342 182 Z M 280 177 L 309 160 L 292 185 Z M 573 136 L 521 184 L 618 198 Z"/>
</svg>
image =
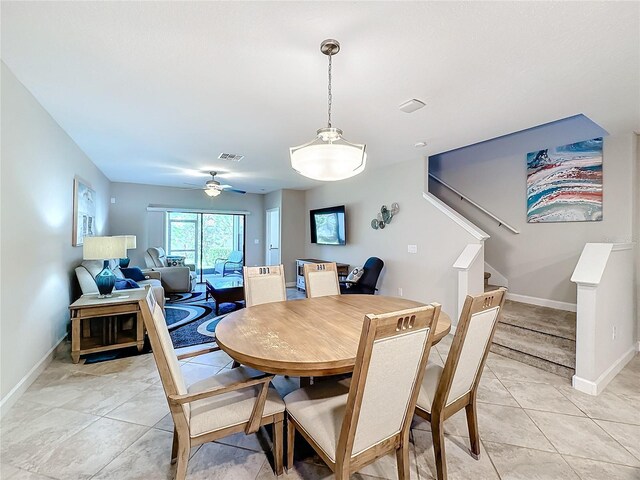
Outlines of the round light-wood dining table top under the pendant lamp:
<svg viewBox="0 0 640 480">
<path fill-rule="evenodd" d="M 383 295 L 330 295 L 265 303 L 230 313 L 216 327 L 220 348 L 272 374 L 319 377 L 352 372 L 364 316 L 424 306 Z M 440 312 L 433 343 L 451 330 Z"/>
</svg>

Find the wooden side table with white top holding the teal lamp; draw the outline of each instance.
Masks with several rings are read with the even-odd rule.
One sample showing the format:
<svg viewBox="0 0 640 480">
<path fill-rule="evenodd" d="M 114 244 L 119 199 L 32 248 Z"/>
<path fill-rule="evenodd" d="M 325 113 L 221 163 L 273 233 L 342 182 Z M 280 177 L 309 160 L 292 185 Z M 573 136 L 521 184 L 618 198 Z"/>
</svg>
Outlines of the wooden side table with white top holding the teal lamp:
<svg viewBox="0 0 640 480">
<path fill-rule="evenodd" d="M 80 361 L 80 355 L 104 352 L 125 347 L 144 348 L 144 323 L 139 303 L 147 290 L 120 290 L 112 297 L 98 298 L 98 294 L 83 295 L 69 306 L 71 314 L 71 359 Z M 134 315 L 132 330 L 118 328 L 119 315 Z M 101 335 L 92 335 L 90 321 L 101 318 Z"/>
</svg>

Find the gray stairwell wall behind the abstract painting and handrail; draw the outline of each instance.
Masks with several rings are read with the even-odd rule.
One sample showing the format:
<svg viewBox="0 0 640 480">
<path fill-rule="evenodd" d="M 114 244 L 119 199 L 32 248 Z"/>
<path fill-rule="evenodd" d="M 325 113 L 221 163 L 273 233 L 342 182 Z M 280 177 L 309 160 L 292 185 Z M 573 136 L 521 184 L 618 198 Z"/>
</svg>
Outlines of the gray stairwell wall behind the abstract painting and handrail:
<svg viewBox="0 0 640 480">
<path fill-rule="evenodd" d="M 577 140 L 549 139 L 540 148 Z M 631 134 L 604 139 L 601 222 L 526 222 L 525 155 L 534 150 L 530 146 L 517 152 L 498 152 L 492 158 L 462 151 L 458 156 L 430 159 L 431 172 L 520 230 L 519 235 L 498 227 L 436 182 L 431 181 L 429 189 L 491 235 L 485 245 L 485 260 L 509 280 L 511 293 L 575 303 L 576 286 L 570 277 L 584 244 L 631 239 L 634 142 Z"/>
</svg>

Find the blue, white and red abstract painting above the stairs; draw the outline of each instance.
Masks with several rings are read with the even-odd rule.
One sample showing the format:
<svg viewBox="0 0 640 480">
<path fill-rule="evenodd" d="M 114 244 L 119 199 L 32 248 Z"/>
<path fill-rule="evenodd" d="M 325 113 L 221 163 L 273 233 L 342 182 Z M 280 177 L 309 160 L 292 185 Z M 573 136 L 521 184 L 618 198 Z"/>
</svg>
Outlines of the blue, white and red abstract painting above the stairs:
<svg viewBox="0 0 640 480">
<path fill-rule="evenodd" d="M 602 138 L 527 154 L 527 222 L 602 220 Z"/>
</svg>

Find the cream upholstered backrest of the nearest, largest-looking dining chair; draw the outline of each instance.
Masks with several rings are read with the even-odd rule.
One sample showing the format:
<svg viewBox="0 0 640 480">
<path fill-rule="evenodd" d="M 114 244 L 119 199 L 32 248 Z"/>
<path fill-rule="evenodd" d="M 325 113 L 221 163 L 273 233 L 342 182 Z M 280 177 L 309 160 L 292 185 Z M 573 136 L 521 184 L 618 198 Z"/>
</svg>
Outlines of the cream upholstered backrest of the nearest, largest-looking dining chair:
<svg viewBox="0 0 640 480">
<path fill-rule="evenodd" d="M 408 434 L 439 315 L 431 304 L 365 316 L 337 456 Z"/>
</svg>

